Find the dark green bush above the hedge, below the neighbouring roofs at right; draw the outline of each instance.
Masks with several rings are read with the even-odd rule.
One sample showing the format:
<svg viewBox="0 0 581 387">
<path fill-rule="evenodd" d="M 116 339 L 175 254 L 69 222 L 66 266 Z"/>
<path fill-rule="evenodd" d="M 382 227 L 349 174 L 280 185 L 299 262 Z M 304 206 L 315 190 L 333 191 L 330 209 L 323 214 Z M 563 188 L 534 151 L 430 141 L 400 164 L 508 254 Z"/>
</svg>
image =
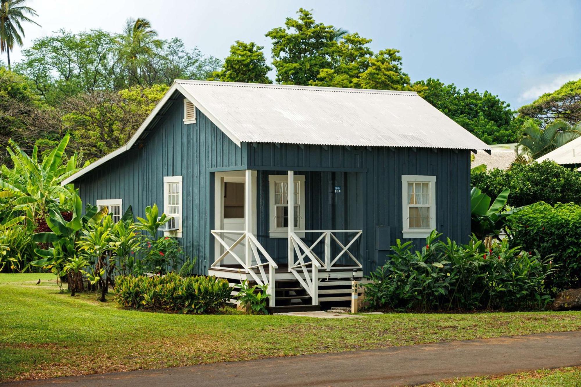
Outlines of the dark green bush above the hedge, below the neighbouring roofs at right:
<svg viewBox="0 0 581 387">
<path fill-rule="evenodd" d="M 510 189 L 508 205 L 521 207 L 536 202 L 573 202 L 581 205 L 581 175 L 555 162 L 513 164 L 503 171 L 472 171 L 472 187 L 479 188 L 486 195 L 496 197 L 504 189 Z"/>
</svg>

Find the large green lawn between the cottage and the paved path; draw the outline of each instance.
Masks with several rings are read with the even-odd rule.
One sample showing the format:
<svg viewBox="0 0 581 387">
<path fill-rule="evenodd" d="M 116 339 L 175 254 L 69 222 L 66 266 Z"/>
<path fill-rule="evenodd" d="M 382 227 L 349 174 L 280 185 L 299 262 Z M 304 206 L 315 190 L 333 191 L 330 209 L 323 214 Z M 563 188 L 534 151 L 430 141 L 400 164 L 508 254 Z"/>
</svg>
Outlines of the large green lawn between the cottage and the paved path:
<svg viewBox="0 0 581 387">
<path fill-rule="evenodd" d="M 192 316 L 58 290 L 49 274 L 0 274 L 0 381 L 581 329 L 581 312 Z"/>
</svg>

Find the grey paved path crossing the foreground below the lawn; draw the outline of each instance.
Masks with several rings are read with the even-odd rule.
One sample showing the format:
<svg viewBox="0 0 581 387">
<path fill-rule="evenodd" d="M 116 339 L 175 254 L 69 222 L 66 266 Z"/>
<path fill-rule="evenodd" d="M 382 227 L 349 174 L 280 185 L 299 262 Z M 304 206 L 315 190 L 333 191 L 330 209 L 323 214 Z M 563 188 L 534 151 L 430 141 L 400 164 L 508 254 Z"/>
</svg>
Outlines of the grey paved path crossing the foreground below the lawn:
<svg viewBox="0 0 581 387">
<path fill-rule="evenodd" d="M 18 382 L 23 386 L 400 386 L 581 365 L 581 331 Z"/>
</svg>

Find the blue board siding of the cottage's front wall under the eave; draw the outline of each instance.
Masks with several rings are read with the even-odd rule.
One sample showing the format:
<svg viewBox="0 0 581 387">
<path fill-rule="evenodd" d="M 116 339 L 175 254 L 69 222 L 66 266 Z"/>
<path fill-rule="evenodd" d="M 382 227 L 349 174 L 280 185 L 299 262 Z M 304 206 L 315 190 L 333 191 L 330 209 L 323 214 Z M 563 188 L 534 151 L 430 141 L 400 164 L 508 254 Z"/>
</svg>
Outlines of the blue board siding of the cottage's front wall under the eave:
<svg viewBox="0 0 581 387">
<path fill-rule="evenodd" d="M 286 260 L 286 240 L 268 238 L 268 175 L 297 169 L 297 174 L 307 176 L 307 229 L 363 230 L 355 249 L 357 256 L 362 258 L 365 273 L 381 265 L 389 253 L 376 250 L 376 227 L 390 227 L 392 244 L 396 239 L 403 239 L 401 175 L 436 176 L 437 231 L 444 237 L 467 243 L 470 234 L 469 155 L 469 150 L 456 149 L 320 145 L 305 145 L 303 149 L 295 144 L 249 146 L 248 167 L 262 170 L 259 191 L 266 192 L 259 196 L 260 200 L 266 200 L 259 200 L 260 242 L 273 256 L 282 256 L 278 261 Z M 335 185 L 342 187 L 341 193 L 333 192 Z M 321 227 L 317 227 L 319 225 Z M 308 235 L 306 239 L 308 242 Z M 424 239 L 410 240 L 416 248 L 425 244 Z"/>
</svg>

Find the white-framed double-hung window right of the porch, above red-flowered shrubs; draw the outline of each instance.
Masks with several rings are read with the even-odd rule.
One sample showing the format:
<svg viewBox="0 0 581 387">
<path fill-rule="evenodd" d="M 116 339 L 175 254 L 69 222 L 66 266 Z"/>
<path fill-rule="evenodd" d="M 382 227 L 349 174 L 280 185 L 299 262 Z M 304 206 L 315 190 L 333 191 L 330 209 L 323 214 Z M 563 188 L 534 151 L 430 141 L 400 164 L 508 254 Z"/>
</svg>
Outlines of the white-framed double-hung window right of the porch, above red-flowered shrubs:
<svg viewBox="0 0 581 387">
<path fill-rule="evenodd" d="M 403 238 L 426 238 L 436 228 L 436 177 L 401 175 Z"/>
</svg>

